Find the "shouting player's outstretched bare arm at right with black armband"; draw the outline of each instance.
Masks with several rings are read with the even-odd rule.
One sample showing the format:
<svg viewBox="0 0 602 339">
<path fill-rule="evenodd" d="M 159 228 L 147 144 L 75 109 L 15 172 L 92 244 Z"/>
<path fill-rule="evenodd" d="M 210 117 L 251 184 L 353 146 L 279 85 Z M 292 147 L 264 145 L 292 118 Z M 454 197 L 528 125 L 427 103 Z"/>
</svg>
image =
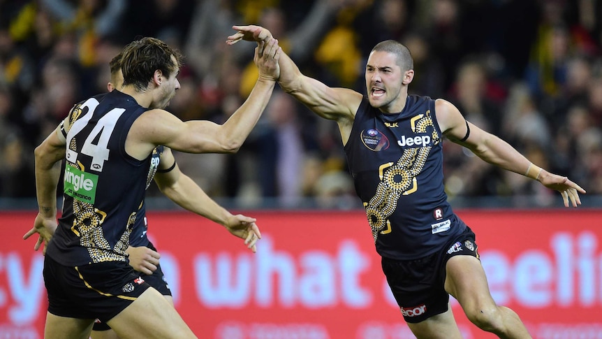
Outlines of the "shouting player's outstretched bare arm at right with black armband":
<svg viewBox="0 0 602 339">
<path fill-rule="evenodd" d="M 581 204 L 579 193 L 585 194 L 585 189 L 566 177 L 536 166 L 506 141 L 467 122 L 452 103 L 437 99 L 435 112 L 439 127 L 449 140 L 467 147 L 490 164 L 525 175 L 549 189 L 560 192 L 566 207 L 569 201 L 573 207 Z"/>
</svg>

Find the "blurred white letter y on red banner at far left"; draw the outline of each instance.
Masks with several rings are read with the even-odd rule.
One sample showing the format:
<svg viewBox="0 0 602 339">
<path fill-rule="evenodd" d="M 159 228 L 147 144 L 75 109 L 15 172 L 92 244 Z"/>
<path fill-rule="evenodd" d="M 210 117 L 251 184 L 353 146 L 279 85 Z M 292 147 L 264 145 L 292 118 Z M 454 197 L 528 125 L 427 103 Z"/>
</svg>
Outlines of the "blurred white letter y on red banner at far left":
<svg viewBox="0 0 602 339">
<path fill-rule="evenodd" d="M 8 319 L 12 324 L 31 324 L 40 314 L 39 308 L 43 305 L 40 301 L 44 296 L 43 266 L 44 257 L 41 255 L 32 257 L 28 267 L 24 266 L 16 252 L 0 252 L 0 273 L 6 275 L 8 285 L 8 293 L 0 289 L 0 309 L 8 308 Z"/>
</svg>

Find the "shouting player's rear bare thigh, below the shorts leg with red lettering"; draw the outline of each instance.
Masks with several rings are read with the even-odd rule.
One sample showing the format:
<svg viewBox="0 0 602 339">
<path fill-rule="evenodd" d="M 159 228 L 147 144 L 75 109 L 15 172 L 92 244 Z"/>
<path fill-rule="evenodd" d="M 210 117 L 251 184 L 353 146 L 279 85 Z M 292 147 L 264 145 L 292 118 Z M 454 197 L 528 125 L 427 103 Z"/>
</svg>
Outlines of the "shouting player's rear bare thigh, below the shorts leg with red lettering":
<svg viewBox="0 0 602 339">
<path fill-rule="evenodd" d="M 422 322 L 407 323 L 418 339 L 462 339 L 451 306 L 439 315 L 434 315 Z"/>
</svg>

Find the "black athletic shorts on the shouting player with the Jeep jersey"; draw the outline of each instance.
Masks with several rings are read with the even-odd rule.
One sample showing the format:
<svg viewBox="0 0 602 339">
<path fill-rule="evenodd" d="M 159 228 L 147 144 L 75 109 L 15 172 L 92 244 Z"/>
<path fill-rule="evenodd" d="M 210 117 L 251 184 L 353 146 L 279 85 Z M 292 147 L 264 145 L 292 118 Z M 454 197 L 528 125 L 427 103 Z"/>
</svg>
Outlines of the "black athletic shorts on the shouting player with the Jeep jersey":
<svg viewBox="0 0 602 339">
<path fill-rule="evenodd" d="M 422 322 L 448 310 L 449 294 L 444 287 L 447 261 L 457 255 L 478 259 L 474 240 L 467 226 L 441 252 L 415 260 L 382 258 L 383 272 L 406 322 Z"/>
</svg>

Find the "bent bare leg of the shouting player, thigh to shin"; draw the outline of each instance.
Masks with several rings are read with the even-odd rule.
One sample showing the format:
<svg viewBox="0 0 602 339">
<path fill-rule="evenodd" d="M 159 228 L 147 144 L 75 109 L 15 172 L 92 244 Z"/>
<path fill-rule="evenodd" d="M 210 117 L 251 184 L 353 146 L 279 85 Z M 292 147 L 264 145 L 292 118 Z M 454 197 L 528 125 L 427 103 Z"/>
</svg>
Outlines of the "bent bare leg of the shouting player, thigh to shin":
<svg viewBox="0 0 602 339">
<path fill-rule="evenodd" d="M 513 310 L 496 305 L 483 266 L 475 257 L 457 255 L 449 259 L 445 289 L 460 302 L 468 319 L 480 329 L 499 338 L 531 338 Z"/>
</svg>

